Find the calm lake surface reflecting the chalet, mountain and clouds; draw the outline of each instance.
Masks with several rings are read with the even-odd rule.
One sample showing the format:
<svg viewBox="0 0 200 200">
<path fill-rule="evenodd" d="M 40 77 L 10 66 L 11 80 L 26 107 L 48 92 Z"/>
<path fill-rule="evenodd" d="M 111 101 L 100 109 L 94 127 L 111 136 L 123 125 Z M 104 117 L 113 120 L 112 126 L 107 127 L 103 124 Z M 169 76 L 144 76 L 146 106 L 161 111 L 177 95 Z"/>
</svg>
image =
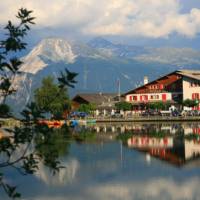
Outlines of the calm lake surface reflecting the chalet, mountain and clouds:
<svg viewBox="0 0 200 200">
<path fill-rule="evenodd" d="M 200 123 L 89 129 L 96 132 L 95 139 L 72 142 L 60 157 L 65 168 L 55 176 L 42 164 L 34 176 L 7 170 L 22 199 L 200 199 Z M 122 141 L 116 139 L 119 135 Z M 7 199 L 2 190 L 0 199 Z"/>
</svg>

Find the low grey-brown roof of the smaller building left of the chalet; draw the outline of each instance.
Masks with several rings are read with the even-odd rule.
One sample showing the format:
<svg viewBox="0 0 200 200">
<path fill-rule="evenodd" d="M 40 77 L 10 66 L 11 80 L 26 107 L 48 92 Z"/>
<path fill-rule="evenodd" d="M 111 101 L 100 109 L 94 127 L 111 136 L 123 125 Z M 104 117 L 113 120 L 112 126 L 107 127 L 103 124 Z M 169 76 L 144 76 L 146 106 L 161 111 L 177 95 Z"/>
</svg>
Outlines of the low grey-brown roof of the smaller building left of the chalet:
<svg viewBox="0 0 200 200">
<path fill-rule="evenodd" d="M 78 98 L 82 98 L 88 103 L 94 103 L 100 105 L 102 103 L 113 101 L 117 96 L 115 93 L 83 93 L 77 94 L 72 100 L 76 101 Z"/>
</svg>

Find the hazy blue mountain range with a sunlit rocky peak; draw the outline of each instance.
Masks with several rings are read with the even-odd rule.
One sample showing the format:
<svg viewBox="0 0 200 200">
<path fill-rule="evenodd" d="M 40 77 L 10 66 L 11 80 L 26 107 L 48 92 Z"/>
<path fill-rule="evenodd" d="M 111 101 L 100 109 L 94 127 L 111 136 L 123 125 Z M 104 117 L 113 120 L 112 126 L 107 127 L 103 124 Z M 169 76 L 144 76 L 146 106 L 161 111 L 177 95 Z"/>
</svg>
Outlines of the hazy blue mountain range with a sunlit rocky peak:
<svg viewBox="0 0 200 200">
<path fill-rule="evenodd" d="M 151 48 L 114 44 L 104 38 L 88 43 L 48 38 L 22 58 L 20 74 L 14 81 L 17 90 L 8 103 L 14 111 L 21 110 L 32 98 L 45 76 L 58 77 L 65 68 L 77 72 L 78 92 L 117 92 L 131 90 L 149 80 L 177 70 L 200 69 L 200 52 L 190 48 Z M 14 103 L 13 103 L 14 102 Z"/>
</svg>

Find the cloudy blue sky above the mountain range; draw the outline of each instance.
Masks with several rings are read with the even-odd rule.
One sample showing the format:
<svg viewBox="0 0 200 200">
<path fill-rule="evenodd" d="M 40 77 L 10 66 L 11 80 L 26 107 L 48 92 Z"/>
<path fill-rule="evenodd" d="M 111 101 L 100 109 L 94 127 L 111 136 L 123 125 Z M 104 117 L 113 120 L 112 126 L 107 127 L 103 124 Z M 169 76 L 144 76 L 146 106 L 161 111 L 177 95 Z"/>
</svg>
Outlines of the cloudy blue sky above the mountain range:
<svg viewBox="0 0 200 200">
<path fill-rule="evenodd" d="M 0 24 L 15 20 L 20 7 L 34 10 L 32 43 L 45 37 L 147 46 L 199 48 L 199 0 L 6 0 L 0 4 Z"/>
</svg>

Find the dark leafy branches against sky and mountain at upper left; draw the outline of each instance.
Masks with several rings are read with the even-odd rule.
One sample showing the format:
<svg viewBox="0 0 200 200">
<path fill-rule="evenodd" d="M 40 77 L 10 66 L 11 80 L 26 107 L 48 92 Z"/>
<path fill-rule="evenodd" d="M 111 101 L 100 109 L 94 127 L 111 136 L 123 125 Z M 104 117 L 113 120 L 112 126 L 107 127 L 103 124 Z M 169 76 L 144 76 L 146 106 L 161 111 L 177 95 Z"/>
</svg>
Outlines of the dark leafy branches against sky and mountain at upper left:
<svg viewBox="0 0 200 200">
<path fill-rule="evenodd" d="M 6 38 L 0 41 L 0 93 L 3 103 L 5 104 L 8 95 L 15 92 L 12 82 L 19 73 L 19 67 L 22 61 L 15 56 L 26 48 L 23 41 L 30 25 L 34 24 L 34 17 L 31 16 L 32 11 L 21 8 L 17 14 L 19 19 L 18 25 L 13 25 L 11 21 L 5 26 L 7 31 Z"/>
</svg>

